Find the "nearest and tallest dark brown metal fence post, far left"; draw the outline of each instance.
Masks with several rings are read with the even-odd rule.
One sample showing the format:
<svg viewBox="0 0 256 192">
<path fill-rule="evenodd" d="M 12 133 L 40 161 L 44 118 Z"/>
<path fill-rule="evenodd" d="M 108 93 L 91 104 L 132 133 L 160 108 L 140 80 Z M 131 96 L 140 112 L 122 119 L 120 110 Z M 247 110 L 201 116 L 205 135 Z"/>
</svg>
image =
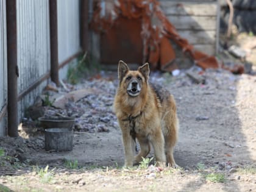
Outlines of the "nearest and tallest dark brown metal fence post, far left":
<svg viewBox="0 0 256 192">
<path fill-rule="evenodd" d="M 8 74 L 8 135 L 18 137 L 18 91 L 17 91 L 17 31 L 16 0 L 6 1 L 7 21 L 7 74 Z"/>
</svg>

